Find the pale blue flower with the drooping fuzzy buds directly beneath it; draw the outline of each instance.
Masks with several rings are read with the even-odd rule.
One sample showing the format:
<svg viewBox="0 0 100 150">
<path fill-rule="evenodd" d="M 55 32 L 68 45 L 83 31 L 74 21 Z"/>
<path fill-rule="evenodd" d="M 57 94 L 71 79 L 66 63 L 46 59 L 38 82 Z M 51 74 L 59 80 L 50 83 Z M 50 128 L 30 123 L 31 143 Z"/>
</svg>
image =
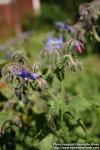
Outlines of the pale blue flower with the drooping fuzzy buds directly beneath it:
<svg viewBox="0 0 100 150">
<path fill-rule="evenodd" d="M 50 37 L 45 45 L 45 48 L 40 52 L 41 62 L 46 62 L 51 68 L 55 67 L 55 64 L 61 58 L 61 48 L 63 46 L 63 38 Z"/>
</svg>

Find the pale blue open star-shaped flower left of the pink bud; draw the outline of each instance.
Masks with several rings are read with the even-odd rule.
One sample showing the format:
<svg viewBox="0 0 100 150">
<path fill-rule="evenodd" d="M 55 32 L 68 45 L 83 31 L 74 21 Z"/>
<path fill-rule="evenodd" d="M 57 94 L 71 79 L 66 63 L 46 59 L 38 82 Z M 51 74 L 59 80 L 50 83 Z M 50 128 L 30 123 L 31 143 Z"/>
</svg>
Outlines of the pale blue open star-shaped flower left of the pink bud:
<svg viewBox="0 0 100 150">
<path fill-rule="evenodd" d="M 60 37 L 58 39 L 54 39 L 53 37 L 50 37 L 46 43 L 46 47 L 50 48 L 61 48 L 63 44 L 63 38 Z"/>
</svg>

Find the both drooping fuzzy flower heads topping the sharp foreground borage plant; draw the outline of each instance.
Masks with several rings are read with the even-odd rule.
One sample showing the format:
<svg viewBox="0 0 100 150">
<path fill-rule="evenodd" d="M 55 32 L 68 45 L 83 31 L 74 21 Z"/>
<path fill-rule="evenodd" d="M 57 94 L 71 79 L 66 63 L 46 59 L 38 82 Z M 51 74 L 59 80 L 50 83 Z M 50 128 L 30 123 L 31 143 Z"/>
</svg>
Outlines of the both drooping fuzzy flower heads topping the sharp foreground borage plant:
<svg viewBox="0 0 100 150">
<path fill-rule="evenodd" d="M 67 25 L 64 28 L 67 28 Z M 48 38 L 45 48 L 41 50 L 41 59 L 34 64 L 34 68 L 25 54 L 15 51 L 12 54 L 14 63 L 5 65 L 2 69 L 2 75 L 10 83 L 16 81 L 14 83 L 14 94 L 19 100 L 28 102 L 29 94 L 34 90 L 42 91 L 50 75 L 55 74 L 61 81 L 64 79 L 67 67 L 72 71 L 80 69 L 81 64 L 73 54 L 82 53 L 82 51 L 83 45 L 80 41 L 71 39 L 64 42 L 62 36 L 59 38 L 52 36 Z M 42 78 L 42 74 L 45 79 Z M 15 85 L 16 83 L 17 85 Z"/>
</svg>

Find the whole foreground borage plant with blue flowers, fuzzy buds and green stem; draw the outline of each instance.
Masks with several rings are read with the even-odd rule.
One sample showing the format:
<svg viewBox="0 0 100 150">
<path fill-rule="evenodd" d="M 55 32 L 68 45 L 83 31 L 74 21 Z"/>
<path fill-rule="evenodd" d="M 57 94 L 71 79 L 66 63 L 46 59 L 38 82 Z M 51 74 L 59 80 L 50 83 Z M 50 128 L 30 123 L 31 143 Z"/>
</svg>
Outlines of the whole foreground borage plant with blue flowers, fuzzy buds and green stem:
<svg viewBox="0 0 100 150">
<path fill-rule="evenodd" d="M 75 119 L 82 127 L 85 134 L 83 138 L 86 140 L 81 118 L 76 119 L 67 108 L 64 87 L 66 70 L 75 72 L 82 69 L 81 62 L 77 59 L 77 55 L 82 52 L 83 44 L 80 41 L 71 39 L 64 42 L 62 37 L 50 37 L 33 65 L 25 54 L 18 51 L 12 54 L 12 61 L 3 67 L 2 76 L 11 85 L 15 98 L 19 99 L 13 109 L 19 111 L 17 121 L 22 123 L 19 132 L 23 138 L 20 135 L 17 144 L 21 143 L 25 147 L 28 137 L 31 148 L 38 148 L 36 143 L 50 133 L 55 142 L 72 142 L 66 116 Z M 54 88 L 54 85 L 58 87 Z M 41 100 L 38 109 L 34 105 L 36 95 Z M 23 113 L 26 117 L 23 117 Z"/>
</svg>

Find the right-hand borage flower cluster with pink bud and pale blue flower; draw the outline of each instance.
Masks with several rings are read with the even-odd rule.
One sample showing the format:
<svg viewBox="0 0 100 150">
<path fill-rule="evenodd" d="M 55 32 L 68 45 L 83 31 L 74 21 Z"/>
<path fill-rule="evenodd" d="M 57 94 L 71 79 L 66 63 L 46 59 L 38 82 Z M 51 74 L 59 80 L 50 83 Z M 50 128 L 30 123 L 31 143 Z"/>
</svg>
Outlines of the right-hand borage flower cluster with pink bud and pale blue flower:
<svg viewBox="0 0 100 150">
<path fill-rule="evenodd" d="M 81 63 L 76 59 L 76 55 L 83 52 L 83 44 L 80 41 L 72 39 L 66 42 L 60 41 L 62 42 L 62 46 L 59 46 L 59 44 L 61 44 L 59 43 L 59 41 L 60 40 L 58 39 L 55 42 L 53 38 L 50 38 L 47 41 L 47 49 L 45 49 L 45 52 L 47 52 L 47 54 L 51 56 L 51 59 L 49 59 L 48 55 L 44 55 L 43 61 L 45 61 L 45 58 L 49 59 L 48 65 L 50 65 L 50 67 L 53 66 L 51 68 L 52 71 L 55 72 L 57 76 L 60 75 L 60 79 L 64 77 L 64 70 L 66 67 L 68 67 L 72 71 L 82 69 Z M 52 44 L 55 44 L 55 46 Z M 42 52 L 44 52 L 44 50 L 42 50 Z"/>
</svg>

